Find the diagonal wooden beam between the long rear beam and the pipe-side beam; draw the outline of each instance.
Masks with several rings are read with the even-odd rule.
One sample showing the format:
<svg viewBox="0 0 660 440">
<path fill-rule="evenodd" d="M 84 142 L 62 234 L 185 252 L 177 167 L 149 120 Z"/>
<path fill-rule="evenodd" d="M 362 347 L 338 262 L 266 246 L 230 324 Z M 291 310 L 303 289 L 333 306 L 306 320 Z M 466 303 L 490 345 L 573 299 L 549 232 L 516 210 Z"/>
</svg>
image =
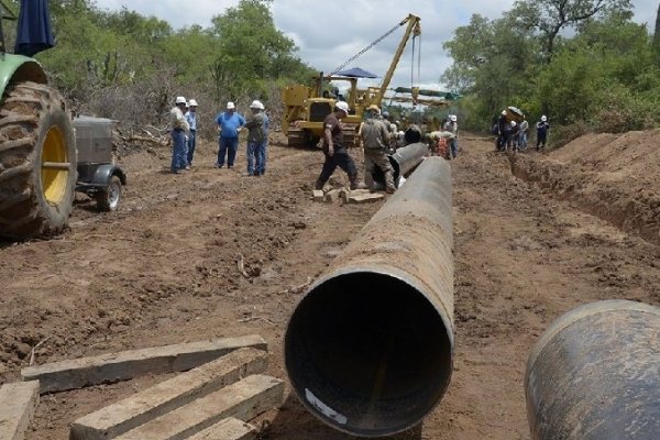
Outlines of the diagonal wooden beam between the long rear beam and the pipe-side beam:
<svg viewBox="0 0 660 440">
<path fill-rule="evenodd" d="M 222 358 L 144 389 L 131 397 L 79 418 L 73 440 L 108 440 L 146 424 L 251 374 L 263 373 L 268 353 L 239 349 Z"/>
</svg>

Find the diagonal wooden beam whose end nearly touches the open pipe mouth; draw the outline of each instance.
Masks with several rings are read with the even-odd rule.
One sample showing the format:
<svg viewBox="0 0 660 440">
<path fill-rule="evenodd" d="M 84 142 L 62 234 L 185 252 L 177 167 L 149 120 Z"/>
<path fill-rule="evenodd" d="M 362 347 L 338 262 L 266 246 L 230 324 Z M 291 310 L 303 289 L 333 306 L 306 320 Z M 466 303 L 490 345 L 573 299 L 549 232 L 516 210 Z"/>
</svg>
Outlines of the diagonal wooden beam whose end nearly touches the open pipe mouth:
<svg viewBox="0 0 660 440">
<path fill-rule="evenodd" d="M 228 417 L 250 420 L 284 402 L 284 382 L 253 375 L 117 437 L 117 440 L 184 440 Z"/>
</svg>

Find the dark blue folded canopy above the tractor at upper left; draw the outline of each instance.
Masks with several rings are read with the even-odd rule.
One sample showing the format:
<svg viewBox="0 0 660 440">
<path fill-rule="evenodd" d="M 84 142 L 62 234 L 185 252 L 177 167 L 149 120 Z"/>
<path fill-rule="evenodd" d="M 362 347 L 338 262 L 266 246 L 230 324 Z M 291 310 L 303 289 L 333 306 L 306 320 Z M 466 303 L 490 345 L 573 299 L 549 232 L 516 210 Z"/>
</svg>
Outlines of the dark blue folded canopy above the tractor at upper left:
<svg viewBox="0 0 660 440">
<path fill-rule="evenodd" d="M 47 0 L 21 0 L 14 53 L 33 56 L 55 45 Z"/>
</svg>

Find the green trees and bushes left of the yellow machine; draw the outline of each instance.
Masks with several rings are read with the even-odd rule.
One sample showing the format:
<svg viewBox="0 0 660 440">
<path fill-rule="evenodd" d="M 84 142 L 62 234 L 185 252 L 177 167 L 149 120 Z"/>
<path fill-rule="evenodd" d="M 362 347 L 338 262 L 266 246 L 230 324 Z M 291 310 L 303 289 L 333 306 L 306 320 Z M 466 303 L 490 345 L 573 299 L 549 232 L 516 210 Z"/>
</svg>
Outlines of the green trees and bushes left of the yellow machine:
<svg viewBox="0 0 660 440">
<path fill-rule="evenodd" d="M 10 2 L 18 11 L 18 0 Z M 315 70 L 275 28 L 271 4 L 241 0 L 208 29 L 174 30 L 127 8 L 106 11 L 92 0 L 50 0 L 57 45 L 36 58 L 74 108 L 127 125 L 164 124 L 178 95 L 196 98 L 213 116 L 227 100 L 258 98 L 278 109 L 279 87 Z"/>
</svg>

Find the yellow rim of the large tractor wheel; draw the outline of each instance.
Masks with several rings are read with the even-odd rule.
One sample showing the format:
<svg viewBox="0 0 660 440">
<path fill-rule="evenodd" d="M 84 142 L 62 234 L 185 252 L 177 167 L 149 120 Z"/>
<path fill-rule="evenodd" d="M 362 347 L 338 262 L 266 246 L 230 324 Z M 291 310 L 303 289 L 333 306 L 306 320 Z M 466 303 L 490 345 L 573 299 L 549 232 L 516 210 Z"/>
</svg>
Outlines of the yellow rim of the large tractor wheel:
<svg viewBox="0 0 660 440">
<path fill-rule="evenodd" d="M 66 195 L 68 164 L 64 134 L 58 127 L 52 127 L 44 141 L 41 164 L 42 189 L 44 198 L 51 205 L 59 205 Z"/>
</svg>

